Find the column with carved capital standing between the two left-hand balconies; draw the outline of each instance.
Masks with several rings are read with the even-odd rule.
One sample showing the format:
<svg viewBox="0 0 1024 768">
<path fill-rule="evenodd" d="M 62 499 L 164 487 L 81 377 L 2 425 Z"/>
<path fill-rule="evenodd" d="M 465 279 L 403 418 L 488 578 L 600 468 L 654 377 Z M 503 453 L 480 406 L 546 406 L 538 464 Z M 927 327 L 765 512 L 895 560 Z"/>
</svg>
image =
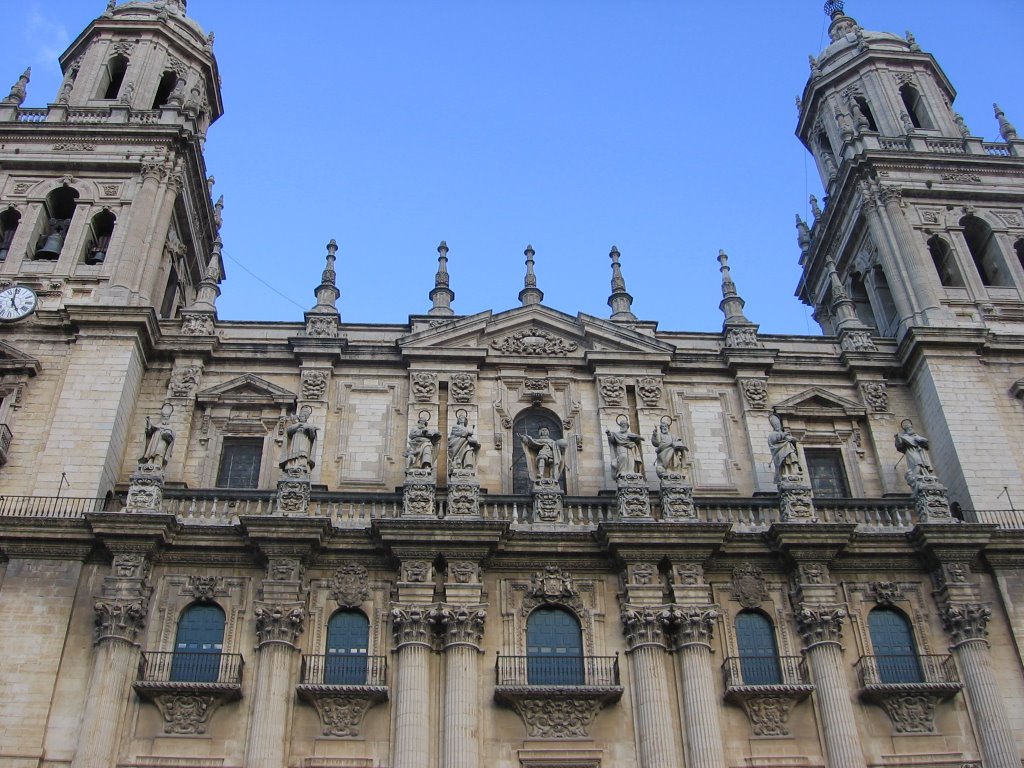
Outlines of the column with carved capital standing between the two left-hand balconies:
<svg viewBox="0 0 1024 768">
<path fill-rule="evenodd" d="M 305 629 L 302 565 L 296 557 L 271 557 L 253 613 L 256 616 L 256 680 L 246 743 L 246 768 L 285 768 L 299 635 Z"/>
</svg>

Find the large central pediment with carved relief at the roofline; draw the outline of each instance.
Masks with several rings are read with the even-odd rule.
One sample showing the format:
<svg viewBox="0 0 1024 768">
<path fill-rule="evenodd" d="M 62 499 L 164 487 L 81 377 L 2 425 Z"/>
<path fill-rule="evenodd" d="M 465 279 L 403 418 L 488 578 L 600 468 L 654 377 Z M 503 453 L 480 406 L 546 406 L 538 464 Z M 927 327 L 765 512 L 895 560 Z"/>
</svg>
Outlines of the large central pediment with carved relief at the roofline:
<svg viewBox="0 0 1024 768">
<path fill-rule="evenodd" d="M 602 353 L 667 360 L 675 351 L 672 344 L 650 334 L 582 312 L 573 317 L 543 304 L 454 318 L 409 334 L 398 346 L 407 356 L 462 353 L 531 360 L 599 359 Z"/>
</svg>

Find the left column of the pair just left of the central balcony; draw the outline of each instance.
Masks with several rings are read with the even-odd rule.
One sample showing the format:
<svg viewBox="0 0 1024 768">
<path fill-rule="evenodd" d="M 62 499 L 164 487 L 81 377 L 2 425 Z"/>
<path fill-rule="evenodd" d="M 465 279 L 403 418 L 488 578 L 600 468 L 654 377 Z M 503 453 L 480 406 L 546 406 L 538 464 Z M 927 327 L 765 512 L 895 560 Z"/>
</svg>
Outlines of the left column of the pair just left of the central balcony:
<svg viewBox="0 0 1024 768">
<path fill-rule="evenodd" d="M 394 681 L 394 758 L 392 768 L 423 768 L 430 742 L 429 605 L 391 609 L 398 671 Z"/>
</svg>

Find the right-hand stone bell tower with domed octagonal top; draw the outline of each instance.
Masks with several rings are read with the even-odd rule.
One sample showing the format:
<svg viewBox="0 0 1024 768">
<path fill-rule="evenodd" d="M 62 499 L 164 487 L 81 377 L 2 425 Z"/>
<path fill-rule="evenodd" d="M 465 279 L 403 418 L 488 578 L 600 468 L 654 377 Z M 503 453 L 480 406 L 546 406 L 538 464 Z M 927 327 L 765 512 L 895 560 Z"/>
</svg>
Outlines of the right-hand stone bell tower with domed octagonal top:
<svg viewBox="0 0 1024 768">
<path fill-rule="evenodd" d="M 830 42 L 810 58 L 797 135 L 826 197 L 811 200 L 811 222 L 797 217 L 797 296 L 826 334 L 867 328 L 845 351 L 899 356 L 926 428 L 944 435 L 933 454 L 950 498 L 995 508 L 1022 480 L 1004 424 L 1024 377 L 1011 341 L 1024 333 L 1024 141 L 997 106 L 1002 140 L 975 135 L 910 33 L 867 31 L 842 0 L 825 12 Z"/>
</svg>

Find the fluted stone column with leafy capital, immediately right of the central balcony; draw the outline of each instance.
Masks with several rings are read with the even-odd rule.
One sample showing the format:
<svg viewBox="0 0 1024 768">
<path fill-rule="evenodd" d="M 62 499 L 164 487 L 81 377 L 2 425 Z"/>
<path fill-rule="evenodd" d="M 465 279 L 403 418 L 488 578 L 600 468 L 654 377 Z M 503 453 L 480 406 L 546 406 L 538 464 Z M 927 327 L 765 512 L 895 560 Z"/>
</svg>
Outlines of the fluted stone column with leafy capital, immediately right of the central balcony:
<svg viewBox="0 0 1024 768">
<path fill-rule="evenodd" d="M 665 676 L 664 608 L 625 606 L 623 631 L 633 668 L 633 700 L 637 714 L 637 741 L 642 768 L 682 768 L 676 745 L 669 684 Z"/>
</svg>

